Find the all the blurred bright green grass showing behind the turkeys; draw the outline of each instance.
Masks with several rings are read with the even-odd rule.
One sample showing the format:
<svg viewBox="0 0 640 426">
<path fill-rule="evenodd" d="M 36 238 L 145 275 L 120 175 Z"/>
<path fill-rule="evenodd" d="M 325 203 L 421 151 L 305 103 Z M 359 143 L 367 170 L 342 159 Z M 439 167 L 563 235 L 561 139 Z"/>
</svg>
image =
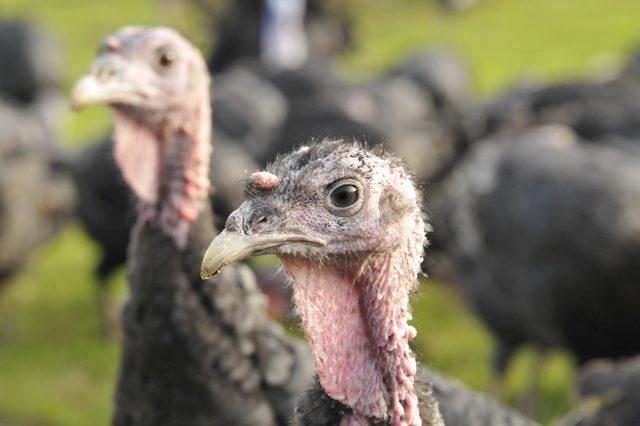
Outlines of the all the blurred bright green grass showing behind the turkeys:
<svg viewBox="0 0 640 426">
<path fill-rule="evenodd" d="M 421 48 L 448 47 L 474 70 L 479 96 L 524 76 L 557 79 L 615 63 L 640 41 L 640 2 L 634 0 L 485 0 L 464 14 L 447 14 L 427 0 L 351 0 L 357 11 L 357 50 L 341 62 L 354 78 L 390 67 Z M 54 32 L 65 54 L 66 88 L 83 73 L 104 34 L 125 24 L 167 24 L 207 49 L 196 12 L 176 0 L 0 0 L 5 17 L 33 19 Z M 60 135 L 78 146 L 103 134 L 108 114 L 69 117 Z M 106 425 L 119 348 L 99 333 L 91 270 L 97 250 L 72 226 L 34 255 L 0 298 L 0 425 Z M 125 294 L 124 272 L 114 292 Z M 492 343 L 452 287 L 423 283 L 414 302 L 423 362 L 487 390 Z M 510 368 L 506 394 L 517 402 L 532 352 Z M 555 354 L 541 377 L 540 420 L 571 404 L 574 370 Z"/>
</svg>

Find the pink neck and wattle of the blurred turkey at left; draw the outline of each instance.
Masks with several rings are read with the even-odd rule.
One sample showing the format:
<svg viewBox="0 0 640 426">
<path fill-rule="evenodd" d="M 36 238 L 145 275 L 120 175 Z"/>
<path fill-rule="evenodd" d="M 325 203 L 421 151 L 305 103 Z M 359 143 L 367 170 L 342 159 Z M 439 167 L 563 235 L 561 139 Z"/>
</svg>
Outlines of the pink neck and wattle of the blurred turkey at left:
<svg viewBox="0 0 640 426">
<path fill-rule="evenodd" d="M 186 245 L 209 188 L 211 106 L 209 95 L 183 112 L 149 125 L 115 110 L 115 158 L 140 200 L 140 223 L 151 220 Z"/>
</svg>

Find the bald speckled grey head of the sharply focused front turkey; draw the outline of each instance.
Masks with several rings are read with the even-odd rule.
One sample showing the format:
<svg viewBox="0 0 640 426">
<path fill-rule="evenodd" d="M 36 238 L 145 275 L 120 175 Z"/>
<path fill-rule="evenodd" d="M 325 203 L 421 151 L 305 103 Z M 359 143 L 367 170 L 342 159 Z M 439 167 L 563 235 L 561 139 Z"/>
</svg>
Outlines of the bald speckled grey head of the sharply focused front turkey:
<svg viewBox="0 0 640 426">
<path fill-rule="evenodd" d="M 425 242 L 411 177 L 398 160 L 357 143 L 303 146 L 254 173 L 246 193 L 229 216 L 226 233 L 241 235 L 243 244 L 259 239 L 256 248 L 263 253 L 337 264 L 407 239 L 420 247 Z M 220 266 L 213 262 L 205 269 L 213 273 Z"/>
</svg>

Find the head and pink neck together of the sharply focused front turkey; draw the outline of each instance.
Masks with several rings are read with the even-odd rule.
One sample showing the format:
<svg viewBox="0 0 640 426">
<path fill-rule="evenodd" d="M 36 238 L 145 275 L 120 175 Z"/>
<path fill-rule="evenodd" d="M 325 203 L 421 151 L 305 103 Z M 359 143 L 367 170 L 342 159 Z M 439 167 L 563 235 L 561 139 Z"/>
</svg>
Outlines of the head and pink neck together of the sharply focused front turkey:
<svg viewBox="0 0 640 426">
<path fill-rule="evenodd" d="M 202 274 L 254 254 L 280 257 L 325 392 L 341 424 L 421 424 L 408 300 L 422 260 L 420 198 L 400 163 L 325 141 L 254 173 L 210 245 Z"/>
</svg>

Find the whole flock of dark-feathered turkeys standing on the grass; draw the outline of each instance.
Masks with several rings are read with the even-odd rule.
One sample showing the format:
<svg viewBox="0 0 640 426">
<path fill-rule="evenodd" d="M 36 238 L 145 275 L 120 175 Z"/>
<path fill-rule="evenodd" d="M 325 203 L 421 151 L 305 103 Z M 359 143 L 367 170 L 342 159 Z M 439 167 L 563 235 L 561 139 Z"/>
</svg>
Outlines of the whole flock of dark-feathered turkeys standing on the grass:
<svg viewBox="0 0 640 426">
<path fill-rule="evenodd" d="M 73 219 L 101 247 L 98 285 L 127 263 L 115 424 L 534 424 L 416 366 L 427 231 L 426 259 L 444 255 L 493 332 L 496 374 L 523 344 L 563 348 L 582 369 L 559 424 L 640 424 L 635 58 L 606 81 L 477 102 L 446 52 L 349 83 L 322 55 L 259 60 L 227 18 L 209 61 L 167 28 L 105 38 L 72 101 L 110 105 L 114 133 L 80 152 L 55 143 L 55 49 L 0 23 L 0 285 Z M 323 46 L 348 42 L 317 21 L 343 29 Z M 309 345 L 234 264 L 265 253 Z"/>
</svg>

